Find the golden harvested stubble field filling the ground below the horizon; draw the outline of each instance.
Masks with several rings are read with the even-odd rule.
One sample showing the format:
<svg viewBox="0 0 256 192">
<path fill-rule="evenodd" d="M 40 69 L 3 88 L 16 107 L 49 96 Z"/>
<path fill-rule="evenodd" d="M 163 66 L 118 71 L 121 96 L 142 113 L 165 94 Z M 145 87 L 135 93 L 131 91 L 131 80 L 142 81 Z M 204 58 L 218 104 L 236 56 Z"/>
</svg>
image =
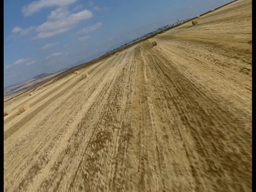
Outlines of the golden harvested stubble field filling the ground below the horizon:
<svg viewBox="0 0 256 192">
<path fill-rule="evenodd" d="M 251 22 L 238 1 L 5 102 L 4 191 L 251 191 Z"/>
</svg>

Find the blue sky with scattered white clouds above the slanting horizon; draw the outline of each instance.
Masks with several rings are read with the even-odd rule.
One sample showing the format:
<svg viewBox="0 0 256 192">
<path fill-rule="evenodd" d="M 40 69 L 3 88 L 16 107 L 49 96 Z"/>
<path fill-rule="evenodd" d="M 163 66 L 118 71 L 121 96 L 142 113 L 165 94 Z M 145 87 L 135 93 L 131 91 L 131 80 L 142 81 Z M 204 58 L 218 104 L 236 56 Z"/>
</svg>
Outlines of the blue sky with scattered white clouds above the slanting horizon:
<svg viewBox="0 0 256 192">
<path fill-rule="evenodd" d="M 4 0 L 4 87 L 79 65 L 232 0 Z"/>
</svg>

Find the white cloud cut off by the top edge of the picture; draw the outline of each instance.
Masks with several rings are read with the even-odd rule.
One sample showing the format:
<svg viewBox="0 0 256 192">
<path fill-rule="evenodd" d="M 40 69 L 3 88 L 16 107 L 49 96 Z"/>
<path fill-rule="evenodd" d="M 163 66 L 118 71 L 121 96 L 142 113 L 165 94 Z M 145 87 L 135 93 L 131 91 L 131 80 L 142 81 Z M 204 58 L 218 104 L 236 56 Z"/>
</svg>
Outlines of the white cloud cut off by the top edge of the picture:
<svg viewBox="0 0 256 192">
<path fill-rule="evenodd" d="M 62 7 L 75 3 L 77 0 L 40 0 L 34 1 L 29 5 L 25 5 L 22 7 L 22 13 L 25 17 L 32 15 L 42 9 L 49 7 Z"/>
</svg>

